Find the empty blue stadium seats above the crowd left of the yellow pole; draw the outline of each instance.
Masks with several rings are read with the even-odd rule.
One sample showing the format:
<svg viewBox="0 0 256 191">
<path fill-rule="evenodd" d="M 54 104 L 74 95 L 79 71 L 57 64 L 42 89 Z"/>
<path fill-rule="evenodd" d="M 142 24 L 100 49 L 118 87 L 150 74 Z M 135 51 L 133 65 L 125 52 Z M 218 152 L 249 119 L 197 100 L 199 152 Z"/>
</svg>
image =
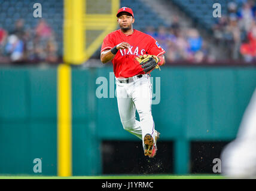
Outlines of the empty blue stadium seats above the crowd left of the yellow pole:
<svg viewBox="0 0 256 191">
<path fill-rule="evenodd" d="M 62 23 L 63 23 L 63 1 L 38 0 L 42 5 L 42 18 L 47 21 L 55 33 L 58 44 L 58 54 L 62 54 Z M 35 29 L 39 19 L 33 17 L 33 0 L 23 1 L 0 1 L 0 27 L 8 32 L 14 30 L 18 19 L 25 21 L 26 29 Z"/>
</svg>

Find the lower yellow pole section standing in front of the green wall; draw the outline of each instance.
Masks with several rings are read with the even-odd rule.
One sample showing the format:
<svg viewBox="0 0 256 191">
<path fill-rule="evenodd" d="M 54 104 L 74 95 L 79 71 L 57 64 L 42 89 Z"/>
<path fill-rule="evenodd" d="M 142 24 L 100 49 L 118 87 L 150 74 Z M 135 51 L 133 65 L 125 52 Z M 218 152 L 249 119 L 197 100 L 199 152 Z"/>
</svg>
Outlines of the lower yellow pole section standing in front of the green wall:
<svg viewBox="0 0 256 191">
<path fill-rule="evenodd" d="M 72 175 L 71 66 L 57 69 L 57 175 Z"/>
</svg>

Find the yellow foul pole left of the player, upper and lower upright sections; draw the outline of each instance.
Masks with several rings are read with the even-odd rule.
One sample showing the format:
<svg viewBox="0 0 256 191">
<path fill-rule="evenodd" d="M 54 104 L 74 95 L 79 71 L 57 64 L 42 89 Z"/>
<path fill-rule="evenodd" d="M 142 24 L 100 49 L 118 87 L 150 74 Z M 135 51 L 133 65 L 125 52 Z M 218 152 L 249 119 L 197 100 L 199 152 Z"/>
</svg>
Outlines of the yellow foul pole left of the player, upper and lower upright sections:
<svg viewBox="0 0 256 191">
<path fill-rule="evenodd" d="M 72 175 L 71 66 L 85 59 L 85 0 L 63 0 L 63 61 L 57 68 L 57 175 Z"/>
</svg>

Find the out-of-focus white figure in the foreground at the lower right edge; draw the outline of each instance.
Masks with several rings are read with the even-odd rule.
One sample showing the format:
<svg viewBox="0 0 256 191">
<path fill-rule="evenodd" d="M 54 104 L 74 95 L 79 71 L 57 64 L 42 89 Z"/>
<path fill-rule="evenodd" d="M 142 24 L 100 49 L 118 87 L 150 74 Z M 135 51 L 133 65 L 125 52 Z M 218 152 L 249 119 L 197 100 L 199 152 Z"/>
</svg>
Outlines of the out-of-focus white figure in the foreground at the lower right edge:
<svg viewBox="0 0 256 191">
<path fill-rule="evenodd" d="M 245 110 L 237 137 L 221 153 L 223 175 L 256 178 L 256 89 Z"/>
</svg>

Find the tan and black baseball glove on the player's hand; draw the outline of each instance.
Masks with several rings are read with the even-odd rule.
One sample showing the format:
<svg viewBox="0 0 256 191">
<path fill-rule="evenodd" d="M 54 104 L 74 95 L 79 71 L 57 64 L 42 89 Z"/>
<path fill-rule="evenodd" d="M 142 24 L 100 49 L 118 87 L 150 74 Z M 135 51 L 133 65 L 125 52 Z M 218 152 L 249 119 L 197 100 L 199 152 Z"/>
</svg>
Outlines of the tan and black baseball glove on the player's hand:
<svg viewBox="0 0 256 191">
<path fill-rule="evenodd" d="M 144 54 L 142 56 L 136 57 L 135 60 L 141 64 L 141 67 L 145 73 L 150 73 L 152 70 L 159 68 L 160 59 L 154 55 Z"/>
</svg>

